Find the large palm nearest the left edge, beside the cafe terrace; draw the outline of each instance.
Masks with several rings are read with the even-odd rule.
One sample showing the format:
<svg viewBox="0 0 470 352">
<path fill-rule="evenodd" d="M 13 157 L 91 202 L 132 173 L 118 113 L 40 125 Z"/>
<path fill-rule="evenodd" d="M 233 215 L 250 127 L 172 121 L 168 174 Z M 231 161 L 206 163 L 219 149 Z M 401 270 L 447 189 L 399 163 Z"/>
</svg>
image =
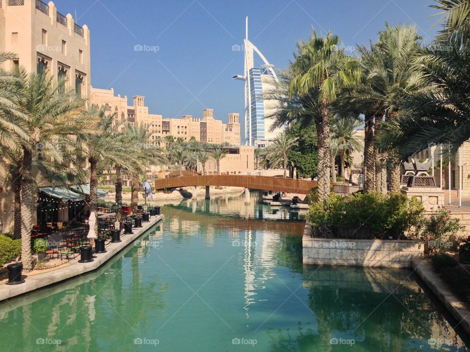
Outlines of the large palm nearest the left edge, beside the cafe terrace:
<svg viewBox="0 0 470 352">
<path fill-rule="evenodd" d="M 27 116 L 25 123 L 31 132 L 31 138 L 22 142 L 18 159 L 18 175 L 22 178 L 22 262 L 30 270 L 32 198 L 37 192 L 33 170 L 52 184 L 83 180 L 83 170 L 74 156 L 74 135 L 90 132 L 94 119 L 80 117 L 83 100 L 64 89 L 63 81 L 55 84 L 52 77 L 44 74 L 28 76 L 24 69 L 14 74 L 20 91 L 16 104 Z"/>
</svg>

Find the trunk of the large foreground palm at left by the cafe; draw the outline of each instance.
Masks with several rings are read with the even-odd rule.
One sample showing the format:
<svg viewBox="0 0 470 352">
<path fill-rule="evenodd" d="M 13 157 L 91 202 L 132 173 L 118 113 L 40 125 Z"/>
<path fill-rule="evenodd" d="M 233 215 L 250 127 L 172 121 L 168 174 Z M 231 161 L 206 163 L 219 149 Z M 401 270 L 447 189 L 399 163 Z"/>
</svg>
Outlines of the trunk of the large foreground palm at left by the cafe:
<svg viewBox="0 0 470 352">
<path fill-rule="evenodd" d="M 32 228 L 32 195 L 33 195 L 33 176 L 32 176 L 32 154 L 31 151 L 23 149 L 23 180 L 21 188 L 21 261 L 26 271 L 31 270 L 31 228 Z"/>
</svg>

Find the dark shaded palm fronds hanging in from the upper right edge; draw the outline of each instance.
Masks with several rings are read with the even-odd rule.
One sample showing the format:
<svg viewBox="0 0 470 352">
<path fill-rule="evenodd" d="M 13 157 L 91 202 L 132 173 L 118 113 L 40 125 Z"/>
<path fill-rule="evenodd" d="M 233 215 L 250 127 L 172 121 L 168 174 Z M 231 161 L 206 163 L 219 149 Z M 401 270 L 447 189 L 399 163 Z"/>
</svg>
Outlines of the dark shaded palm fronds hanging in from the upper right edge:
<svg viewBox="0 0 470 352">
<path fill-rule="evenodd" d="M 442 34 L 416 58 L 413 67 L 431 88 L 409 96 L 406 113 L 383 128 L 381 147 L 395 148 L 402 161 L 431 143 L 451 144 L 451 154 L 455 154 L 470 138 L 467 2 L 437 2 L 447 21 Z"/>
</svg>

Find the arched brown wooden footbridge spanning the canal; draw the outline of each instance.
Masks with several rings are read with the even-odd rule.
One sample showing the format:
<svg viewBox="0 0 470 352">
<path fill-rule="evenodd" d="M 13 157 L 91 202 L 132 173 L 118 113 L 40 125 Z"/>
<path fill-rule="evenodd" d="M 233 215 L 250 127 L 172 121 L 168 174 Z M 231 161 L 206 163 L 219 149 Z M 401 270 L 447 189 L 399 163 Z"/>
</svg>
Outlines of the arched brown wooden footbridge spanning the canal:
<svg viewBox="0 0 470 352">
<path fill-rule="evenodd" d="M 188 186 L 232 186 L 273 192 L 307 194 L 316 181 L 251 175 L 179 176 L 155 181 L 155 190 Z"/>
</svg>

